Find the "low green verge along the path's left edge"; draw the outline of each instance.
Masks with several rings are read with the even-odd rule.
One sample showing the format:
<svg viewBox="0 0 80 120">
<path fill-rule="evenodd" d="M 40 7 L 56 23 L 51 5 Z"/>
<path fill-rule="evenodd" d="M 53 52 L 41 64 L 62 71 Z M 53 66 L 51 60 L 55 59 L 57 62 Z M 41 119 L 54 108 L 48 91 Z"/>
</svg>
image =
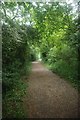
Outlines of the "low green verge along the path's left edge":
<svg viewBox="0 0 80 120">
<path fill-rule="evenodd" d="M 25 66 L 26 67 L 26 66 Z M 25 68 L 26 69 L 26 68 Z M 28 83 L 25 84 L 24 80 L 27 80 L 31 71 L 31 63 L 27 65 L 26 72 L 21 76 L 21 79 L 17 81 L 17 85 L 10 91 L 7 91 L 3 97 L 2 105 L 2 117 L 3 118 L 26 118 L 23 107 L 23 97 L 27 93 Z M 16 79 L 16 76 L 15 76 Z"/>
</svg>

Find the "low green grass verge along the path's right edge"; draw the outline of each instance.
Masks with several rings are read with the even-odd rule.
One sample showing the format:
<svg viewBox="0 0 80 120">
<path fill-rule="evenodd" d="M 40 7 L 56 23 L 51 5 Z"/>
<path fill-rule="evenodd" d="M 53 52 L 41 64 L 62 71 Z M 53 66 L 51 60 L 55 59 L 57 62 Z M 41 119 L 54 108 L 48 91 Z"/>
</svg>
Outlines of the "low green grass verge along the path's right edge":
<svg viewBox="0 0 80 120">
<path fill-rule="evenodd" d="M 67 69 L 67 67 L 66 67 L 66 69 L 64 69 L 62 66 L 62 69 L 60 67 L 55 69 L 55 67 L 52 65 L 49 65 L 48 62 L 42 62 L 42 63 L 44 63 L 44 65 L 49 70 L 51 70 L 53 73 L 56 73 L 61 78 L 64 78 L 64 80 L 66 80 L 69 84 L 71 84 L 75 89 L 78 89 L 80 91 L 80 83 L 78 82 L 77 77 L 73 78 L 74 72 L 70 73 L 69 67 L 68 67 L 68 69 Z"/>
</svg>

